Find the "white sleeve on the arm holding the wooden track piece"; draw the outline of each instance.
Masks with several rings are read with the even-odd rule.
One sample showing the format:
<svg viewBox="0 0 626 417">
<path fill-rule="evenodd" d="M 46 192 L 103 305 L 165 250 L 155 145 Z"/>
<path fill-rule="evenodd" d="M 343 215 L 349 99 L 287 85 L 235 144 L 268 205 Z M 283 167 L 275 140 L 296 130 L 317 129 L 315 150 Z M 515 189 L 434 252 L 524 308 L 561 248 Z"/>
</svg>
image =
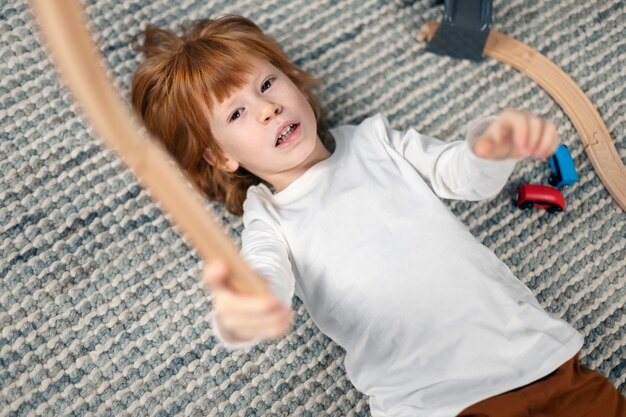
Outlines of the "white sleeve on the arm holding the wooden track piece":
<svg viewBox="0 0 626 417">
<path fill-rule="evenodd" d="M 255 272 L 268 281 L 271 290 L 285 305 L 291 305 L 295 292 L 295 278 L 288 246 L 268 221 L 259 218 L 258 210 L 249 211 L 252 213 L 244 211 L 241 256 Z M 224 332 L 214 315 L 211 323 L 213 333 L 227 349 L 248 349 L 263 340 L 262 338 L 249 341 L 228 340 L 224 337 Z"/>
</svg>

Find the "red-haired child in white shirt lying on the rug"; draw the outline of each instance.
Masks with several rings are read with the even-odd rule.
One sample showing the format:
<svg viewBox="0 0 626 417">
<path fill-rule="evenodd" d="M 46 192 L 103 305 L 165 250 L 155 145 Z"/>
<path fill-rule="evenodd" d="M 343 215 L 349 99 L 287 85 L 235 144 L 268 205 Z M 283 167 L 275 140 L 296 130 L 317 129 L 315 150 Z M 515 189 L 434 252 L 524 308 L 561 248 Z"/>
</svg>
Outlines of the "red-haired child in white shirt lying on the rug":
<svg viewBox="0 0 626 417">
<path fill-rule="evenodd" d="M 148 27 L 139 49 L 134 107 L 198 189 L 243 213 L 242 255 L 268 282 L 239 294 L 207 266 L 226 346 L 284 334 L 297 294 L 374 416 L 626 415 L 578 365 L 582 336 L 438 198 L 493 197 L 517 160 L 554 152 L 552 123 L 508 110 L 444 143 L 378 114 L 323 141 L 314 80 L 249 20 Z"/>
</svg>

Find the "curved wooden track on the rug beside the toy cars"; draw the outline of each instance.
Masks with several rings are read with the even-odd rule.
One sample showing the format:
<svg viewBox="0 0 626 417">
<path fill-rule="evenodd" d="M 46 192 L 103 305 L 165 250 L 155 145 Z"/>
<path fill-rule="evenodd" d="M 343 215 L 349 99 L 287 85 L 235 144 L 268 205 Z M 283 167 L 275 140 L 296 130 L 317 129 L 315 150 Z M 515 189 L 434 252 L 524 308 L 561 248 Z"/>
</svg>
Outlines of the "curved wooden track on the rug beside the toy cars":
<svg viewBox="0 0 626 417">
<path fill-rule="evenodd" d="M 418 40 L 423 42 L 432 39 L 438 27 L 437 22 L 427 22 L 418 33 Z M 626 166 L 617 153 L 604 121 L 580 87 L 537 50 L 502 33 L 489 33 L 484 54 L 532 78 L 563 108 L 578 131 L 602 183 L 622 210 L 626 211 Z"/>
</svg>

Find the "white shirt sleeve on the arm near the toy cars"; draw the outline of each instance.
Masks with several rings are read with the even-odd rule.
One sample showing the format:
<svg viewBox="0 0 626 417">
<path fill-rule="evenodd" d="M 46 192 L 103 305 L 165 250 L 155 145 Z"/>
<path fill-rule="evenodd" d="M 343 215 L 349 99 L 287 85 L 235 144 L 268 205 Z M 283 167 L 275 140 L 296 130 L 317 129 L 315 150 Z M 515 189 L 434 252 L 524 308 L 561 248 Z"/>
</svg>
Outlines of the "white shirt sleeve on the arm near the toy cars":
<svg viewBox="0 0 626 417">
<path fill-rule="evenodd" d="M 495 117 L 475 123 L 464 141 L 450 143 L 422 135 L 414 129 L 404 132 L 389 127 L 383 118 L 389 143 L 441 198 L 484 200 L 494 197 L 506 184 L 515 168 L 515 159 L 494 161 L 479 158 L 471 150 Z"/>
</svg>

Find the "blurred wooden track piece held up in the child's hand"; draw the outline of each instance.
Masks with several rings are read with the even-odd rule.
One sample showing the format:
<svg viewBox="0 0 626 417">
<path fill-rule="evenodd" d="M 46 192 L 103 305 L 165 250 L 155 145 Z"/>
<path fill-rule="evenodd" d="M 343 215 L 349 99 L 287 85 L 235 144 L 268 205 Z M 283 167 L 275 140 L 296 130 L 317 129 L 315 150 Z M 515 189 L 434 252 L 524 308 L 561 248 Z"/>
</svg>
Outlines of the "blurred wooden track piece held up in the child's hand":
<svg viewBox="0 0 626 417">
<path fill-rule="evenodd" d="M 206 260 L 223 259 L 231 283 L 242 292 L 268 291 L 265 280 L 240 258 L 212 220 L 169 154 L 142 137 L 131 112 L 99 65 L 97 48 L 76 0 L 32 0 L 32 9 L 61 75 L 105 144 L 134 171 L 150 194 Z"/>
</svg>

